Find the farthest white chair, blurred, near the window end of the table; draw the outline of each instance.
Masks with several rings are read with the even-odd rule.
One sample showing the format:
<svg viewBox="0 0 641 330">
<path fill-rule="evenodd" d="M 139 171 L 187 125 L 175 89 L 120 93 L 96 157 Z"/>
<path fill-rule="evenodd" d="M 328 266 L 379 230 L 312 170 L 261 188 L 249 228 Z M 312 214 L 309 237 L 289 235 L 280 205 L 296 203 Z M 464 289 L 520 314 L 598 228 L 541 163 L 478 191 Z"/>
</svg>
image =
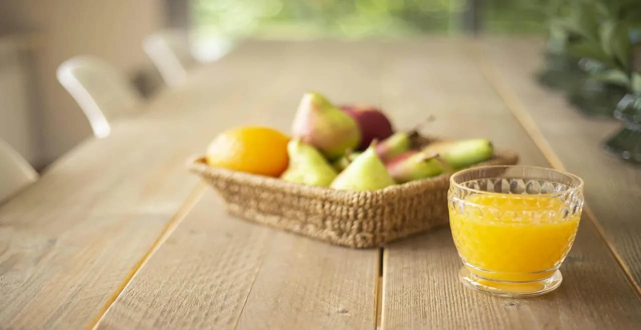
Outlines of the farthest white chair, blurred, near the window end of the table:
<svg viewBox="0 0 641 330">
<path fill-rule="evenodd" d="M 187 79 L 187 72 L 197 61 L 191 52 L 187 33 L 162 31 L 147 36 L 142 48 L 154 63 L 167 86 L 178 86 Z"/>
</svg>

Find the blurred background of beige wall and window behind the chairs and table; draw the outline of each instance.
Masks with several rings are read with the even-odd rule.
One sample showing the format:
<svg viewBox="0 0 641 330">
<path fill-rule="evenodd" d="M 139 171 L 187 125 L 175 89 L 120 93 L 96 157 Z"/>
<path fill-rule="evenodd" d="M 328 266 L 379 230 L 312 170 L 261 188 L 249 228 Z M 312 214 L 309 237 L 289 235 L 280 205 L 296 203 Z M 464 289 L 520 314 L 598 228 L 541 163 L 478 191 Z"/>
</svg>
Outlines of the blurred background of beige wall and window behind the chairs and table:
<svg viewBox="0 0 641 330">
<path fill-rule="evenodd" d="M 42 169 L 91 136 L 87 117 L 56 79 L 59 65 L 78 54 L 103 59 L 151 97 L 163 83 L 142 43 L 163 29 L 190 31 L 194 56 L 206 61 L 246 38 L 545 35 L 551 3 L 558 2 L 3 0 L 0 138 Z"/>
</svg>

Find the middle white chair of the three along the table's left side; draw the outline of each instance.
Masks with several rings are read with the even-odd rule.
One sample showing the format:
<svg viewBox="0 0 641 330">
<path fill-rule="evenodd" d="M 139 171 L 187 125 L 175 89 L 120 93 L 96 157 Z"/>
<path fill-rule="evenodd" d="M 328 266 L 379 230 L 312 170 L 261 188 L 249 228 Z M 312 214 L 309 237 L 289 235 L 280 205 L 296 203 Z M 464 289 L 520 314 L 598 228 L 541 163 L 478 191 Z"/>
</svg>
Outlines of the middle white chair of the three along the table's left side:
<svg viewBox="0 0 641 330">
<path fill-rule="evenodd" d="M 69 91 L 96 138 L 109 135 L 109 123 L 133 113 L 142 96 L 126 77 L 101 59 L 76 56 L 58 67 L 58 81 Z"/>
</svg>

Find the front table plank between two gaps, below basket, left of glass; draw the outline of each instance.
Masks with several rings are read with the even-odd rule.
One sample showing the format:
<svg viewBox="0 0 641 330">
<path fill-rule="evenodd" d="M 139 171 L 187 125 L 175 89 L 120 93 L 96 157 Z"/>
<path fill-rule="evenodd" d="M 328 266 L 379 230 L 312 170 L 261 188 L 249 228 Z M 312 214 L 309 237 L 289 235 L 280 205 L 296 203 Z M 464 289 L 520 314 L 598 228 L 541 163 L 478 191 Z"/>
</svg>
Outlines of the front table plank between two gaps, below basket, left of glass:
<svg viewBox="0 0 641 330">
<path fill-rule="evenodd" d="M 377 267 L 376 249 L 228 216 L 208 189 L 98 328 L 372 328 Z"/>
</svg>

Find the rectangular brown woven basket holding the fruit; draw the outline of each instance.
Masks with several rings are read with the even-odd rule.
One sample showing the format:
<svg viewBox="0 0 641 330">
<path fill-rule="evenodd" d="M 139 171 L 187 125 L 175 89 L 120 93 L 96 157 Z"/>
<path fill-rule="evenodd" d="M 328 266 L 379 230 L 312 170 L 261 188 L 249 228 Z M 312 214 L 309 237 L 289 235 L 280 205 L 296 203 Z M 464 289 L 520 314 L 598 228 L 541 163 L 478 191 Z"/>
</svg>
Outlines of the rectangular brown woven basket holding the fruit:
<svg viewBox="0 0 641 330">
<path fill-rule="evenodd" d="M 430 141 L 419 136 L 413 144 Z M 495 150 L 492 159 L 477 166 L 517 161 L 516 153 Z M 353 192 L 213 168 L 204 157 L 188 166 L 219 191 L 229 214 L 351 248 L 372 248 L 448 222 L 447 173 Z"/>
</svg>

